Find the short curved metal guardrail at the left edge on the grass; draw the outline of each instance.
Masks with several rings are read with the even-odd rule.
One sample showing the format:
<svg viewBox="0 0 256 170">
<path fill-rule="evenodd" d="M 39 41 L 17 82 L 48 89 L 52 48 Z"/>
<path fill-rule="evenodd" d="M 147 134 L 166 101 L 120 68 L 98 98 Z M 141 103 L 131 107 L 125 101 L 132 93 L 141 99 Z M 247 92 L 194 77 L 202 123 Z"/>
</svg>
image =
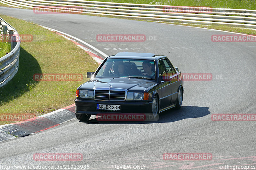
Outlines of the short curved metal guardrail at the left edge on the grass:
<svg viewBox="0 0 256 170">
<path fill-rule="evenodd" d="M 2 40 L 9 36 L 8 40 L 11 42 L 11 52 L 0 58 L 0 88 L 9 82 L 19 69 L 20 56 L 20 41 L 16 41 L 18 32 L 4 19 L 0 18 L 0 34 Z"/>
</svg>

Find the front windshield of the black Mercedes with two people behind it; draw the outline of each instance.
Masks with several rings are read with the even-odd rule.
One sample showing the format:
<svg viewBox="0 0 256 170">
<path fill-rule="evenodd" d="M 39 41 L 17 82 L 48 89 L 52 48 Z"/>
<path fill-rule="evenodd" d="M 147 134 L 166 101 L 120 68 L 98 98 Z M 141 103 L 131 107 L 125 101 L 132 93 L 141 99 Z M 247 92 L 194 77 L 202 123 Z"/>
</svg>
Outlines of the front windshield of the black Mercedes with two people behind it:
<svg viewBox="0 0 256 170">
<path fill-rule="evenodd" d="M 156 79 L 155 61 L 139 59 L 108 59 L 95 78 L 120 77 Z"/>
</svg>

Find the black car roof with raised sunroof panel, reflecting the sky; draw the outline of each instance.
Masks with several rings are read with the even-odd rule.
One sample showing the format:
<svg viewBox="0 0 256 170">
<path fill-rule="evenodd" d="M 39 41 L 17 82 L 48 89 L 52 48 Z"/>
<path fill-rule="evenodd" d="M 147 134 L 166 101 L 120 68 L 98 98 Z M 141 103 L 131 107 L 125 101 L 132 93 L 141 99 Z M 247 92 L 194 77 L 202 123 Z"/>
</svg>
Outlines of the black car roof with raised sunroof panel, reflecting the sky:
<svg viewBox="0 0 256 170">
<path fill-rule="evenodd" d="M 133 53 L 133 52 L 122 52 L 117 53 L 116 55 L 111 55 L 108 58 L 109 59 L 142 59 L 142 60 L 155 60 L 159 55 L 153 54 L 153 53 Z M 163 55 L 160 55 L 161 57 L 166 57 Z"/>
</svg>

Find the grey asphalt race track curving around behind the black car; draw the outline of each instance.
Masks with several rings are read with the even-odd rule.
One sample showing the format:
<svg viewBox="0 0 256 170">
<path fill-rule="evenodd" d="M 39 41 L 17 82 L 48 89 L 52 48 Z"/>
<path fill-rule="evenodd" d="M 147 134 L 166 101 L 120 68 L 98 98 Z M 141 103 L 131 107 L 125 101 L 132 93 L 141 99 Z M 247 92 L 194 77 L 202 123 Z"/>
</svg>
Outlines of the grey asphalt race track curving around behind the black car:
<svg viewBox="0 0 256 170">
<path fill-rule="evenodd" d="M 107 55 L 155 53 L 168 56 L 183 73 L 212 74 L 210 81 L 184 81 L 182 108 L 165 111 L 158 121 L 97 122 L 91 118 L 83 123 L 75 119 L 1 142 L 0 165 L 51 165 L 54 169 L 60 169 L 58 165 L 89 165 L 90 169 L 122 165 L 131 165 L 131 169 L 256 167 L 255 121 L 211 120 L 212 114 L 256 114 L 255 42 L 212 42 L 213 34 L 232 33 L 155 22 L 35 14 L 33 10 L 6 7 L 0 7 L 0 14 L 68 33 Z M 99 42 L 98 34 L 144 34 L 146 41 Z M 35 153 L 82 153 L 83 160 L 35 161 Z M 211 153 L 212 159 L 164 160 L 164 153 Z"/>
</svg>

